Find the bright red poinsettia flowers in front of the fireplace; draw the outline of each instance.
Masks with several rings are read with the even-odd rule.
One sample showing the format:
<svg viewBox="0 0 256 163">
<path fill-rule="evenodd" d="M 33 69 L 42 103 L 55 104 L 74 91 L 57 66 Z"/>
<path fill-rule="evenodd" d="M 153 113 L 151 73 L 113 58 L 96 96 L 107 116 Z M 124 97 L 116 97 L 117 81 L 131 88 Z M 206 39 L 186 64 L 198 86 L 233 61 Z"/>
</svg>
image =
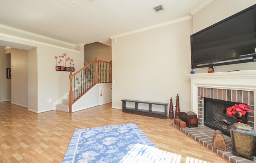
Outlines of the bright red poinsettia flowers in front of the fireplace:
<svg viewBox="0 0 256 163">
<path fill-rule="evenodd" d="M 230 117 L 233 117 L 234 115 L 242 117 L 242 115 L 245 115 L 247 111 L 252 112 L 252 110 L 247 105 L 242 103 L 227 108 L 227 114 Z"/>
</svg>

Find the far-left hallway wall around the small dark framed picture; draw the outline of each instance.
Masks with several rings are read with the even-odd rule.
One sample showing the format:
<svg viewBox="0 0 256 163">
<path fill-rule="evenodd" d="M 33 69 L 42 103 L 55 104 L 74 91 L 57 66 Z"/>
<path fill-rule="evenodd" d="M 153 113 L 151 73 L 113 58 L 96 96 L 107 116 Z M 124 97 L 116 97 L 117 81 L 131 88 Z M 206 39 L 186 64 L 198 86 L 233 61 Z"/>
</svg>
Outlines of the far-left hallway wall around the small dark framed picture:
<svg viewBox="0 0 256 163">
<path fill-rule="evenodd" d="M 11 56 L 0 50 L 0 102 L 11 100 L 11 79 L 6 78 L 6 68 L 11 68 Z"/>
</svg>

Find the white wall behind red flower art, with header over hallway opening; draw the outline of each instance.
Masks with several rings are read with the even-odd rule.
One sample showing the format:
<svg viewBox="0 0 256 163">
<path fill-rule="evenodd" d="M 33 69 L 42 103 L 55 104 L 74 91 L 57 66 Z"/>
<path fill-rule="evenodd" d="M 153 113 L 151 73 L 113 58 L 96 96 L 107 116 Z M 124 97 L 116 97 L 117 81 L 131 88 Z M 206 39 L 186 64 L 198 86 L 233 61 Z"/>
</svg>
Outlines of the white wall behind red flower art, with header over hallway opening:
<svg viewBox="0 0 256 163">
<path fill-rule="evenodd" d="M 0 26 L 0 42 L 2 46 L 8 46 L 12 44 L 22 44 L 37 48 L 37 58 L 30 58 L 37 64 L 37 108 L 35 103 L 30 106 L 28 102 L 28 109 L 37 113 L 54 109 L 54 101 L 62 97 L 66 92 L 69 91 L 69 72 L 58 72 L 55 71 L 56 60 L 54 56 L 61 56 L 66 53 L 70 58 L 74 59 L 76 71 L 84 66 L 84 53 L 81 54 L 78 50 L 72 50 L 46 44 L 26 38 L 16 37 L 15 33 L 5 33 L 5 30 L 1 29 Z M 82 49 L 84 45 L 82 45 Z M 31 48 L 32 49 L 32 48 Z M 81 48 L 80 48 L 81 49 Z M 34 53 L 36 54 L 36 53 Z M 30 71 L 30 70 L 28 70 Z M 33 70 L 34 71 L 34 70 Z M 31 74 L 36 75 L 35 72 Z M 30 72 L 28 73 L 30 74 Z M 35 80 L 34 80 L 35 81 Z M 30 82 L 30 81 L 28 81 Z M 28 85 L 28 90 L 32 90 L 35 86 Z M 34 92 L 35 93 L 35 92 Z M 51 103 L 48 103 L 48 99 L 52 99 Z M 29 101 L 30 99 L 28 99 Z M 37 111 L 36 111 L 37 110 Z"/>
</svg>

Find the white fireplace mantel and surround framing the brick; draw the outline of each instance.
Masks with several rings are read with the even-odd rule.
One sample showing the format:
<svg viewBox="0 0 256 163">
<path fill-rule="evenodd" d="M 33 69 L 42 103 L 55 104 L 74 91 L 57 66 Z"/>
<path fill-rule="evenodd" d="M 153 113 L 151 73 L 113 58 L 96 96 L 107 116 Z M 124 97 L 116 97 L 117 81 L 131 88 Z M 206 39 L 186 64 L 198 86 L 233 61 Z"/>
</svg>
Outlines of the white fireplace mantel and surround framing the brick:
<svg viewBox="0 0 256 163">
<path fill-rule="evenodd" d="M 191 106 L 198 115 L 198 87 L 253 91 L 254 105 L 256 104 L 256 70 L 189 74 L 191 79 Z M 254 109 L 254 122 L 256 122 Z M 254 123 L 256 129 L 256 123 Z"/>
</svg>

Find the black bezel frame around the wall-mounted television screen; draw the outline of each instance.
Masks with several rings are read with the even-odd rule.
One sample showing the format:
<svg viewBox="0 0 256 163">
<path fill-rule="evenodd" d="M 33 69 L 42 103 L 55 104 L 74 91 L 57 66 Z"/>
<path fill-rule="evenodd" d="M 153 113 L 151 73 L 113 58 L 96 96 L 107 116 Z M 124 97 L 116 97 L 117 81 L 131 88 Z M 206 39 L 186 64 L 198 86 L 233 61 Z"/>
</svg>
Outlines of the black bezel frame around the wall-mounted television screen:
<svg viewBox="0 0 256 163">
<path fill-rule="evenodd" d="M 210 61 L 206 61 L 206 62 L 198 62 L 198 63 L 193 63 L 193 40 L 192 37 L 196 36 L 197 34 L 200 34 L 214 26 L 217 26 L 218 24 L 221 24 L 223 22 L 226 22 L 227 20 L 230 20 L 240 14 L 243 14 L 244 12 L 247 12 L 249 10 L 253 10 L 254 12 L 254 48 L 256 48 L 256 4 L 254 4 L 253 6 L 250 6 L 232 16 L 229 16 L 228 18 L 221 20 L 220 22 L 217 22 L 203 30 L 200 30 L 199 32 L 196 32 L 195 34 L 192 34 L 190 36 L 190 48 L 191 48 L 191 68 L 205 68 L 205 67 L 210 67 L 210 66 L 222 66 L 222 65 L 230 65 L 230 64 L 241 64 L 241 63 L 247 63 L 247 62 L 256 62 L 256 54 L 252 55 L 252 56 L 248 56 L 248 57 L 252 57 L 250 59 L 244 59 L 244 58 L 248 58 L 248 57 L 232 57 L 232 58 L 222 58 L 222 59 L 218 59 L 218 60 L 210 60 Z M 236 60 L 236 59 L 241 59 L 241 60 Z M 235 60 L 235 61 L 230 61 L 228 62 L 228 60 Z M 227 61 L 227 62 L 220 62 L 220 61 Z M 214 63 L 214 62 L 220 62 L 220 63 Z M 199 66 L 198 66 L 199 65 Z"/>
</svg>

